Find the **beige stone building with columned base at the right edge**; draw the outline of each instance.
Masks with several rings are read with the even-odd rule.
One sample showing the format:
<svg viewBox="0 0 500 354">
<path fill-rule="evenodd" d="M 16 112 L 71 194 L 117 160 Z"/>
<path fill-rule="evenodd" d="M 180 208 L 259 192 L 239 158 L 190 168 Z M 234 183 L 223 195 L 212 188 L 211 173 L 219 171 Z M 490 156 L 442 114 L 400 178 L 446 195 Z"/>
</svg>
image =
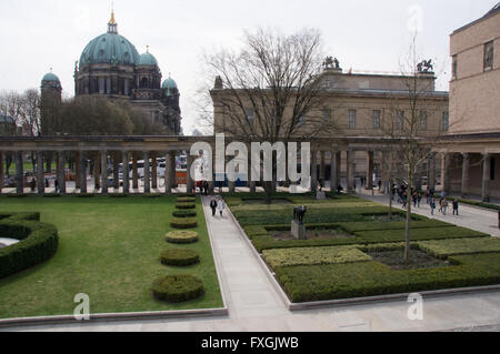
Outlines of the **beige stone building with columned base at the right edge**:
<svg viewBox="0 0 500 354">
<path fill-rule="evenodd" d="M 450 133 L 436 151 L 448 193 L 500 200 L 500 3 L 450 36 Z"/>
</svg>

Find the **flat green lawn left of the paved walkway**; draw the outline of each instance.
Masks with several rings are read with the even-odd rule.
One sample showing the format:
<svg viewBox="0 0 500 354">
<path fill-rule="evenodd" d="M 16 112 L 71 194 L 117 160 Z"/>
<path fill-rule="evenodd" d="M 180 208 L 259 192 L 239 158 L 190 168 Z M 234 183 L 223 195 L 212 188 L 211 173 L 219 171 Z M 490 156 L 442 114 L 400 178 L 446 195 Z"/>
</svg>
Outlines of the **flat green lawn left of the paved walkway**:
<svg viewBox="0 0 500 354">
<path fill-rule="evenodd" d="M 160 263 L 174 196 L 111 199 L 64 196 L 0 198 L 0 211 L 37 211 L 58 227 L 59 250 L 48 262 L 0 280 L 0 318 L 72 314 L 78 293 L 90 296 L 91 313 L 221 307 L 216 266 L 201 203 L 200 241 L 182 245 L 200 253 L 201 263 L 171 267 Z M 8 236 L 8 235 L 3 235 Z M 151 284 L 167 274 L 198 275 L 206 294 L 180 304 L 156 301 Z"/>
</svg>

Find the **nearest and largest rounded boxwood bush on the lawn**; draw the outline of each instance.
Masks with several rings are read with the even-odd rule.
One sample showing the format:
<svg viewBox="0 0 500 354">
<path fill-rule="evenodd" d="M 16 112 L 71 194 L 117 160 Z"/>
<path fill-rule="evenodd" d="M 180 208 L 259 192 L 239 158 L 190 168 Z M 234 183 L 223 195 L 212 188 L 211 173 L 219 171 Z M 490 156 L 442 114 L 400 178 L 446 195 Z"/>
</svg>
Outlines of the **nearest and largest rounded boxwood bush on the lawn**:
<svg viewBox="0 0 500 354">
<path fill-rule="evenodd" d="M 157 277 L 151 290 L 156 299 L 172 303 L 198 299 L 204 294 L 203 283 L 193 275 Z"/>
</svg>

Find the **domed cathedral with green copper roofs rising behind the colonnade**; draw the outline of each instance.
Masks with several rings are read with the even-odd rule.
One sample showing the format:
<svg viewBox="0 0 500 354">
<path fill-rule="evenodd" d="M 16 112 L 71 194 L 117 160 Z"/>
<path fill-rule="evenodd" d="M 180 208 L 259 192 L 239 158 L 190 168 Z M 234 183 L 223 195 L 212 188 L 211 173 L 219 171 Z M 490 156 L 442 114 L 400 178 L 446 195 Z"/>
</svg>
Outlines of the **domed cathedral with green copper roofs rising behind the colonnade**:
<svg viewBox="0 0 500 354">
<path fill-rule="evenodd" d="M 41 83 L 42 94 L 61 93 L 61 83 L 47 74 Z M 91 40 L 74 65 L 74 94 L 99 94 L 114 101 L 129 101 L 162 123 L 168 134 L 181 129 L 180 92 L 176 81 L 162 73 L 157 59 L 149 52 L 139 54 L 136 47 L 118 33 L 114 13 L 108 31 Z"/>
</svg>

